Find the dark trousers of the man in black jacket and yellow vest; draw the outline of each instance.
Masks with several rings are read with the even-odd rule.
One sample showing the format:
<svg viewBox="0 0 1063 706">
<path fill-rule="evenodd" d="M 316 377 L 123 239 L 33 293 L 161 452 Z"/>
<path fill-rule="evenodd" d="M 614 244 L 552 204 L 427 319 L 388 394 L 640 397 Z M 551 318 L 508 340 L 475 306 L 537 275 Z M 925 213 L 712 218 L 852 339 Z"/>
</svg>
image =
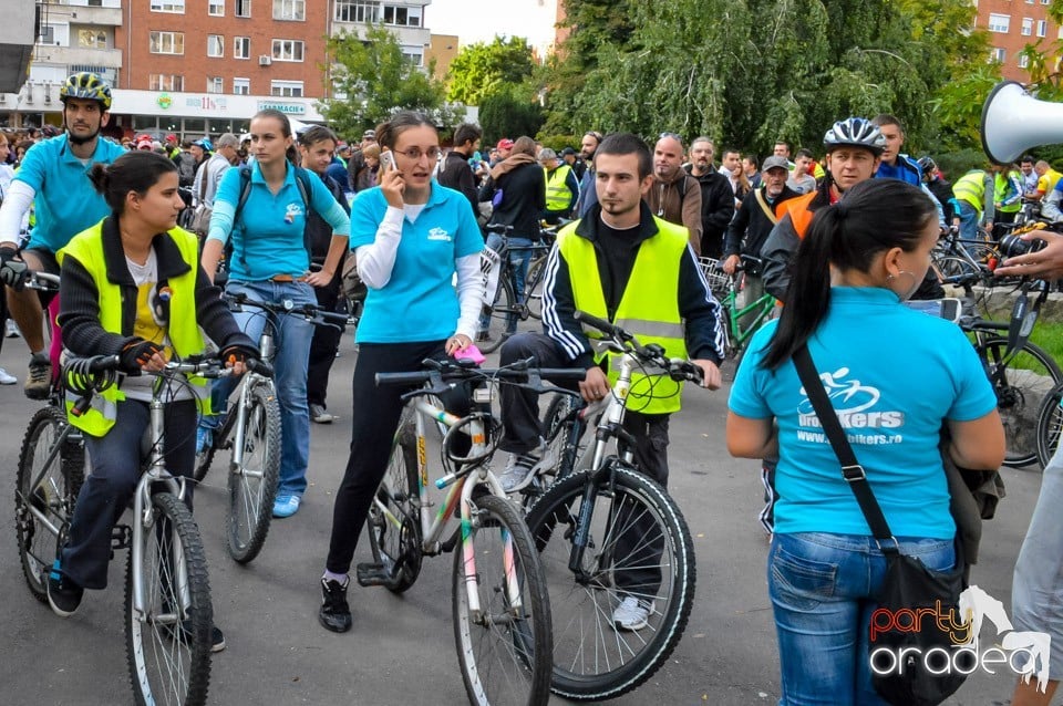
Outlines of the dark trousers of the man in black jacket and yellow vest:
<svg viewBox="0 0 1063 706">
<path fill-rule="evenodd" d="M 566 367 L 571 364 L 557 343 L 541 333 L 518 333 L 502 346 L 502 365 L 527 357 L 534 357 L 539 367 Z M 536 448 L 544 434 L 538 395 L 514 385 L 502 385 L 499 398 L 504 428 L 499 448 L 515 454 Z M 623 417 L 623 428 L 634 437 L 636 467 L 665 488 L 669 417 L 667 414 L 631 411 L 626 412 Z M 630 595 L 649 600 L 657 594 L 661 584 L 660 560 L 664 537 L 652 518 L 646 513 L 636 517 L 631 508 L 626 506 L 620 508 L 615 526 L 623 528 L 617 538 L 617 585 Z"/>
</svg>

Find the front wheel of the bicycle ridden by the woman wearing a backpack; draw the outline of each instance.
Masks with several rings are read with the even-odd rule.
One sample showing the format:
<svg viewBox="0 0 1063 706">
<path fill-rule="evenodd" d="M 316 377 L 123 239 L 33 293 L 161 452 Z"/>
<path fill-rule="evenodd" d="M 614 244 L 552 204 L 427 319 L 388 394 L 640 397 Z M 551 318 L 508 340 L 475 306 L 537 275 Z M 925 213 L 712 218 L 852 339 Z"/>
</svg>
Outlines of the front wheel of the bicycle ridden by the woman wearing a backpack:
<svg viewBox="0 0 1063 706">
<path fill-rule="evenodd" d="M 262 381 L 248 394 L 242 467 L 230 464 L 229 468 L 226 544 L 237 563 L 252 561 L 262 550 L 274 517 L 279 476 L 280 404 L 272 385 Z"/>
</svg>

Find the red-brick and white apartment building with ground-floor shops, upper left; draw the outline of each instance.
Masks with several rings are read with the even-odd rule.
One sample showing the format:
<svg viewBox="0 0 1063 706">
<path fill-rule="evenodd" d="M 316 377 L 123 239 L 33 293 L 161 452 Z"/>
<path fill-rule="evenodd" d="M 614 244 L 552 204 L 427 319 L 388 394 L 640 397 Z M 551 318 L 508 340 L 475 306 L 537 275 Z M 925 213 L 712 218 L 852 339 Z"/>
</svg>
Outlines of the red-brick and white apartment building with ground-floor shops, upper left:
<svg viewBox="0 0 1063 706">
<path fill-rule="evenodd" d="M 371 23 L 383 23 L 410 61 L 424 65 L 430 3 L 39 0 L 30 77 L 18 93 L 0 93 L 0 124 L 60 125 L 59 86 L 74 71 L 111 82 L 114 136 L 246 132 L 250 116 L 266 107 L 323 122 L 317 101 L 331 95 L 321 71 L 326 37 L 363 37 Z"/>
</svg>

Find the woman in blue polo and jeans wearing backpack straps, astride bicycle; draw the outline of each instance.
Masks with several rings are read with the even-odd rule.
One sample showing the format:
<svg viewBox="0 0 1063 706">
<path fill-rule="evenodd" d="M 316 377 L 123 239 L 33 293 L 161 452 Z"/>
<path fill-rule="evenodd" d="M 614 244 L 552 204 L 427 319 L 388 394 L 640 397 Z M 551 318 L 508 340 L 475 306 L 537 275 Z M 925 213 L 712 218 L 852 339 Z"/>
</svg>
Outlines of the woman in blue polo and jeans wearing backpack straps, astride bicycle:
<svg viewBox="0 0 1063 706">
<path fill-rule="evenodd" d="M 327 287 L 347 249 L 350 218 L 332 193 L 312 172 L 307 172 L 306 195 L 297 183 L 291 164 L 296 148 L 288 117 L 278 111 L 259 111 L 251 117 L 250 190 L 240 200 L 241 169 L 221 177 L 214 199 L 210 230 L 203 247 L 203 269 L 214 279 L 225 245 L 231 239 L 226 291 L 246 293 L 250 299 L 296 307 L 314 304 L 314 287 Z M 332 227 L 332 243 L 321 270 L 310 272 L 310 252 L 303 230 L 307 209 L 314 210 Z M 234 217 L 236 222 L 234 224 Z M 244 331 L 258 341 L 266 320 L 258 312 L 237 314 Z M 307 489 L 310 460 L 310 412 L 307 406 L 307 365 L 313 326 L 301 316 L 276 316 L 274 372 L 280 402 L 280 482 L 274 517 L 289 517 L 299 510 Z M 228 387 L 231 391 L 231 387 Z M 205 424 L 210 424 L 205 421 Z"/>
</svg>

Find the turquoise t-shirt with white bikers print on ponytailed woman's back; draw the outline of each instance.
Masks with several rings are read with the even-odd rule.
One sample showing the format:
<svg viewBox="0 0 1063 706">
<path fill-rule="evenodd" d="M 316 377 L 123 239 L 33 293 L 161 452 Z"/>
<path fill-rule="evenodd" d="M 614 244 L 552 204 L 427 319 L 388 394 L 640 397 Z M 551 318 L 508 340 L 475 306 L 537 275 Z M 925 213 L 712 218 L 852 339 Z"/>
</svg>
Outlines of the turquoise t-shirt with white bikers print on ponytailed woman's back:
<svg viewBox="0 0 1063 706">
<path fill-rule="evenodd" d="M 776 323 L 753 336 L 729 402 L 743 417 L 777 419 L 775 531 L 870 534 L 793 362 L 760 365 Z M 894 536 L 951 539 L 938 434 L 946 419 L 997 406 L 963 332 L 888 290 L 835 287 L 808 351 Z"/>
</svg>

